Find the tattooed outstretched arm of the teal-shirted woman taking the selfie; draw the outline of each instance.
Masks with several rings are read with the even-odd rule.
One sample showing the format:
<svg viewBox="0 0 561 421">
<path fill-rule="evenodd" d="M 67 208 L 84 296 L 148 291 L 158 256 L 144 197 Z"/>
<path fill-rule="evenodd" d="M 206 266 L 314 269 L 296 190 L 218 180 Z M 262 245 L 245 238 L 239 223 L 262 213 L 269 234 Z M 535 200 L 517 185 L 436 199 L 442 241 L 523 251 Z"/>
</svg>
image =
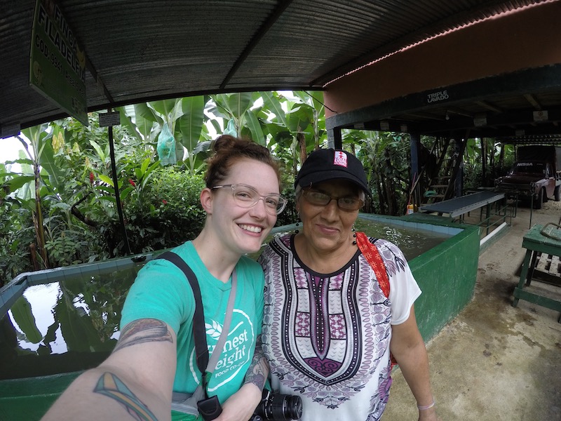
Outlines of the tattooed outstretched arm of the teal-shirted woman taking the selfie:
<svg viewBox="0 0 561 421">
<path fill-rule="evenodd" d="M 170 420 L 175 341 L 163 321 L 128 323 L 107 360 L 76 378 L 41 420 Z"/>
</svg>

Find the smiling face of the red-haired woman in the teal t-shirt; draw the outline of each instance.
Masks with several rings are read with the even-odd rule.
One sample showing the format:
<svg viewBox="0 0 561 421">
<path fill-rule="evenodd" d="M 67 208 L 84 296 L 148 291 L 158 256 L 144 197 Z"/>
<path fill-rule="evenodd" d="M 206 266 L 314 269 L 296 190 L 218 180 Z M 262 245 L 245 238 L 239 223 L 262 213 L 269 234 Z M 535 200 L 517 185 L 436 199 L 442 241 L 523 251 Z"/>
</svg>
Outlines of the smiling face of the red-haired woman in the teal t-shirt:
<svg viewBox="0 0 561 421">
<path fill-rule="evenodd" d="M 253 187 L 260 196 L 279 194 L 278 178 L 273 168 L 255 159 L 239 159 L 220 182 L 220 185 L 238 184 Z M 276 223 L 277 215 L 267 212 L 263 200 L 243 208 L 234 201 L 229 187 L 204 189 L 201 203 L 208 213 L 208 227 L 224 246 L 239 255 L 258 251 Z"/>
</svg>

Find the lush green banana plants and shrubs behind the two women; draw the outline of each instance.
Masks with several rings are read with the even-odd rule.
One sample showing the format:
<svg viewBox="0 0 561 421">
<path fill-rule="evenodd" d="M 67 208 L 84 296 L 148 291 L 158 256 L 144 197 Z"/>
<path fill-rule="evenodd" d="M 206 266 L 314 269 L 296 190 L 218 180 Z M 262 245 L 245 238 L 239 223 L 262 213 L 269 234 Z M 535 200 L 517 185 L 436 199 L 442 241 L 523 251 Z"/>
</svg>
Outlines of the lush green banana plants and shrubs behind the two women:
<svg viewBox="0 0 561 421">
<path fill-rule="evenodd" d="M 205 159 L 217 133 L 271 150 L 290 200 L 277 223 L 294 222 L 297 169 L 327 141 L 320 92 L 201 95 L 118 110 L 121 125 L 111 128 L 115 174 L 109 128 L 100 127 L 97 113 L 87 127 L 62 119 L 22 131 L 25 153 L 0 164 L 0 286 L 22 272 L 169 248 L 196 236 L 204 222 L 198 194 Z M 372 200 L 365 211 L 403 215 L 409 137 L 352 130 L 344 131 L 343 145 L 367 171 Z M 504 163 L 492 140 L 473 140 L 467 151 L 469 182 L 480 182 L 474 175 L 482 154 L 482 179 L 496 167 L 495 156 Z M 21 171 L 12 171 L 14 164 Z"/>
</svg>

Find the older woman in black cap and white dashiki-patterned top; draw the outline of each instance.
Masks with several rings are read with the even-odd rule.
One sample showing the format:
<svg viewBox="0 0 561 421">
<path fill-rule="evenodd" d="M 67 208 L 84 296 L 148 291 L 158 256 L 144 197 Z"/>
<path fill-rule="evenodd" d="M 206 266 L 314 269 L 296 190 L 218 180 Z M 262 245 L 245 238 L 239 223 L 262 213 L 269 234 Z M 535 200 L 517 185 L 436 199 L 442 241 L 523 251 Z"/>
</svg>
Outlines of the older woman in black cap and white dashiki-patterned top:
<svg viewBox="0 0 561 421">
<path fill-rule="evenodd" d="M 319 149 L 295 188 L 302 228 L 271 241 L 259 259 L 273 389 L 302 397 L 303 421 L 379 420 L 393 355 L 419 420 L 437 420 L 413 308 L 421 290 L 397 246 L 353 232 L 370 194 L 362 164 L 347 152 Z M 377 248 L 381 270 L 369 264 L 360 239 Z"/>
</svg>

